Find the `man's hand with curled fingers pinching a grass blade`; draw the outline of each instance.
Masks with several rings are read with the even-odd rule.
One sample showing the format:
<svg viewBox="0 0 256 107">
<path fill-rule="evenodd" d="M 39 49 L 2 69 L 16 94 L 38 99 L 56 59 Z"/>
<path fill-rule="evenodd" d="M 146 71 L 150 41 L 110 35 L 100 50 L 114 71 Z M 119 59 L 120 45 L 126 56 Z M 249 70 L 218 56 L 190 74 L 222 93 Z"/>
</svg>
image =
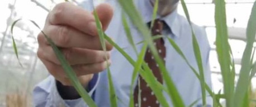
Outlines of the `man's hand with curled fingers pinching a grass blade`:
<svg viewBox="0 0 256 107">
<path fill-rule="evenodd" d="M 106 30 L 113 16 L 113 9 L 109 4 L 96 7 L 103 30 Z M 60 3 L 48 14 L 44 33 L 60 47 L 66 60 L 79 77 L 81 84 L 86 86 L 94 73 L 102 72 L 110 63 L 105 60 L 93 12 L 84 10 L 71 3 Z M 63 85 L 71 86 L 64 69 L 56 58 L 54 51 L 42 33 L 38 34 L 38 57 L 42 60 L 49 73 Z M 113 46 L 106 42 L 107 50 Z"/>
</svg>

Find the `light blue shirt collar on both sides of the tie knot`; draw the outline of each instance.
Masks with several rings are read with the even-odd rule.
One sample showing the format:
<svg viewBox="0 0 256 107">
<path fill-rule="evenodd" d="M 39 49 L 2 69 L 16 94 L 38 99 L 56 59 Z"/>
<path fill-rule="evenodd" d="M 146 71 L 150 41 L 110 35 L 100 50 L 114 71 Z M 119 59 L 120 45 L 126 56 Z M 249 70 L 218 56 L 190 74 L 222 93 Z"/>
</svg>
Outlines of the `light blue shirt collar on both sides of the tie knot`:
<svg viewBox="0 0 256 107">
<path fill-rule="evenodd" d="M 151 5 L 149 0 L 135 0 L 134 1 L 138 11 L 142 14 L 142 18 L 144 20 L 144 23 L 151 22 L 152 20 L 152 14 L 153 14 L 153 6 Z M 162 21 L 165 21 L 168 27 L 171 28 L 171 32 L 176 37 L 180 37 L 180 27 L 181 24 L 177 21 L 178 13 L 177 9 L 173 11 L 171 14 L 168 14 L 165 17 L 160 17 L 157 15 L 158 19 L 161 19 Z"/>
</svg>

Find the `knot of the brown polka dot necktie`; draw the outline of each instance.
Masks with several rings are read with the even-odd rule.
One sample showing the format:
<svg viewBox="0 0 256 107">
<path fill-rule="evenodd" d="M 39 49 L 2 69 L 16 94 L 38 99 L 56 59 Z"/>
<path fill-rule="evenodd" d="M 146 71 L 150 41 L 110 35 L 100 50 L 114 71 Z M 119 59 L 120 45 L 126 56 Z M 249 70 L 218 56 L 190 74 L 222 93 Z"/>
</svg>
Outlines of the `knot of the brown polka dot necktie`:
<svg viewBox="0 0 256 107">
<path fill-rule="evenodd" d="M 152 35 L 161 35 L 162 30 L 163 30 L 163 21 L 161 21 L 160 19 L 154 20 L 154 23 L 151 29 Z"/>
</svg>

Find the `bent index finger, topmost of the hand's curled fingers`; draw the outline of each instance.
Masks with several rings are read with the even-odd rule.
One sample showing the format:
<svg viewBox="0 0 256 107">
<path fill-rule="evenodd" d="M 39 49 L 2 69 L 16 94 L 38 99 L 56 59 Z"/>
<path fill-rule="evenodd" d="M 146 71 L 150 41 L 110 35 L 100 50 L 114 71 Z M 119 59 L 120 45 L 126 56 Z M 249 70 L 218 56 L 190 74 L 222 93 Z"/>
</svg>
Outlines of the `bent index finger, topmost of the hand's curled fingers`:
<svg viewBox="0 0 256 107">
<path fill-rule="evenodd" d="M 49 13 L 49 23 L 67 25 L 79 29 L 81 32 L 96 35 L 95 19 L 89 11 L 71 3 L 57 4 Z"/>
</svg>

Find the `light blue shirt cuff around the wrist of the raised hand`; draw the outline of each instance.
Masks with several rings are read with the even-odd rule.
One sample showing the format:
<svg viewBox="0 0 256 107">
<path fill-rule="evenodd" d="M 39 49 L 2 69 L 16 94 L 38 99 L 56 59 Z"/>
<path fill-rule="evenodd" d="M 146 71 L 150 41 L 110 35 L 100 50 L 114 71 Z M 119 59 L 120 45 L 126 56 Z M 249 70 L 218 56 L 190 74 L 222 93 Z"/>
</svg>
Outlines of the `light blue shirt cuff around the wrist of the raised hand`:
<svg viewBox="0 0 256 107">
<path fill-rule="evenodd" d="M 98 83 L 99 83 L 99 74 L 94 74 L 93 79 L 91 79 L 90 82 L 88 83 L 88 89 L 87 89 L 87 91 L 89 92 L 88 94 L 93 99 L 94 99 L 93 94 L 94 94 L 94 91 L 95 91 L 96 86 L 98 85 Z M 54 98 L 54 99 L 51 99 L 51 98 Z M 52 104 L 55 104 L 56 106 L 64 105 L 64 106 L 67 106 L 67 107 L 88 106 L 82 98 L 74 99 L 74 100 L 63 100 L 61 98 L 59 92 L 57 91 L 56 82 L 54 82 L 54 84 L 52 85 L 52 89 L 50 91 L 49 99 L 50 99 L 49 103 L 50 103 L 51 106 L 52 106 Z"/>
</svg>

